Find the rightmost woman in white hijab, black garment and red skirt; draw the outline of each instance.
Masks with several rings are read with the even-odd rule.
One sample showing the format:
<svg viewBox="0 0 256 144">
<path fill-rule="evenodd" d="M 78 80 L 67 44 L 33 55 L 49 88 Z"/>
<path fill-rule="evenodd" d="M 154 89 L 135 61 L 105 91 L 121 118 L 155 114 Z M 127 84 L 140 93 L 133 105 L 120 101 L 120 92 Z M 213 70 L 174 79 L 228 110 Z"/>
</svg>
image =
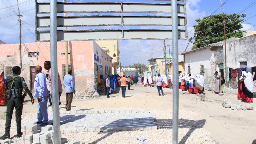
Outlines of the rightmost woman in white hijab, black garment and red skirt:
<svg viewBox="0 0 256 144">
<path fill-rule="evenodd" d="M 242 91 L 245 95 L 245 100 L 247 103 L 253 102 L 253 77 L 252 73 L 248 72 L 245 79 L 242 82 Z"/>
</svg>

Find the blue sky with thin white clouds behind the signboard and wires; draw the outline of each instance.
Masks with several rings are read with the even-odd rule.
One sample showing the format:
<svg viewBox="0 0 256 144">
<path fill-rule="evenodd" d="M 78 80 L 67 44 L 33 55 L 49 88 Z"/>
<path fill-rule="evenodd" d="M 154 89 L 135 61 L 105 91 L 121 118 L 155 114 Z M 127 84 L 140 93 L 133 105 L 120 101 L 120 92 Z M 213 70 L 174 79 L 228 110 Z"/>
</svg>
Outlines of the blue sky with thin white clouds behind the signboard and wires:
<svg viewBox="0 0 256 144">
<path fill-rule="evenodd" d="M 18 0 L 19 10 L 22 17 L 22 43 L 35 42 L 35 1 Z M 79 0 L 76 0 L 79 1 Z M 97 0 L 94 0 L 97 1 Z M 130 0 L 131 1 L 131 0 Z M 256 30 L 256 1 L 255 0 L 222 0 L 224 11 L 227 14 L 246 13 L 243 22 L 243 30 Z M 0 1 L 0 40 L 5 43 L 19 42 L 19 24 L 16 0 Z M 8 7 L 10 8 L 8 8 Z M 195 19 L 202 18 L 210 14 L 223 13 L 220 7 L 220 0 L 186 0 L 188 37 L 193 36 L 192 25 L 196 24 Z M 188 40 L 179 40 L 179 52 L 183 52 L 187 46 Z M 171 44 L 171 40 L 166 40 L 166 44 Z M 186 51 L 190 50 L 192 44 L 189 44 Z M 151 50 L 153 49 L 153 55 Z M 170 46 L 170 51 L 172 45 Z M 133 63 L 142 63 L 147 65 L 147 60 L 152 56 L 158 57 L 163 54 L 163 40 L 120 40 L 119 50 L 121 55 L 121 65 L 132 65 Z M 167 53 L 169 53 L 167 46 Z"/>
</svg>

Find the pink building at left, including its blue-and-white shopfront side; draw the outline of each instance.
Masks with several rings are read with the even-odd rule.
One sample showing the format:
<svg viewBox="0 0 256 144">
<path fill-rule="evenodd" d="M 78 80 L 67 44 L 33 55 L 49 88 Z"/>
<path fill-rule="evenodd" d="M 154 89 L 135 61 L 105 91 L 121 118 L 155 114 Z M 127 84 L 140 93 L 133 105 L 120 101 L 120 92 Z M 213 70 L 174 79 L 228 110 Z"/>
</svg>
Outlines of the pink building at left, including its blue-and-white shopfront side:
<svg viewBox="0 0 256 144">
<path fill-rule="evenodd" d="M 19 66 L 19 44 L 0 45 L 0 70 L 10 76 L 13 66 Z M 85 90 L 90 87 L 97 89 L 97 71 L 105 79 L 112 70 L 112 58 L 94 41 L 68 42 L 68 64 L 73 71 L 75 87 Z M 61 79 L 65 76 L 65 42 L 57 42 L 58 73 Z M 22 44 L 22 69 L 28 87 L 33 92 L 35 66 L 43 68 L 45 61 L 50 61 L 50 42 Z M 43 68 L 43 73 L 47 71 Z M 104 80 L 102 80 L 104 82 Z M 62 82 L 63 83 L 63 82 Z"/>
</svg>

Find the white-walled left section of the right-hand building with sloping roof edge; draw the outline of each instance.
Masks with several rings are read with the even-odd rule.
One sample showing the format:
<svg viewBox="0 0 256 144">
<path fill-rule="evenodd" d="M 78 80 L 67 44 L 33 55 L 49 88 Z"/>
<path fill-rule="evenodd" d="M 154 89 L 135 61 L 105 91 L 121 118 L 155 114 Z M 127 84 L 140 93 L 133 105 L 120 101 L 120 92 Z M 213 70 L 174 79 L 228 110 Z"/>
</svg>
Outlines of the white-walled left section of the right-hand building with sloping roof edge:
<svg viewBox="0 0 256 144">
<path fill-rule="evenodd" d="M 227 39 L 226 42 L 232 42 L 238 38 Z M 215 71 L 224 73 L 224 41 L 212 43 L 191 51 L 181 53 L 184 55 L 184 71 L 193 75 L 203 75 L 206 84 L 212 84 Z"/>
</svg>

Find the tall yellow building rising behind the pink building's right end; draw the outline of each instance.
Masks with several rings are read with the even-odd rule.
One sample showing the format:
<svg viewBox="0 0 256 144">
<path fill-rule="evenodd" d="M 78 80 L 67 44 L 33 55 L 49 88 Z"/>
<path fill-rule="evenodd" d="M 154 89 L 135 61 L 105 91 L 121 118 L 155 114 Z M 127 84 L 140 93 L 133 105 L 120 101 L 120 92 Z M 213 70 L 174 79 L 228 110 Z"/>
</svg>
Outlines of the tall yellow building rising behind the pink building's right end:
<svg viewBox="0 0 256 144">
<path fill-rule="evenodd" d="M 102 49 L 113 58 L 112 60 L 112 75 L 117 74 L 117 66 L 119 65 L 118 40 L 96 40 Z"/>
</svg>

